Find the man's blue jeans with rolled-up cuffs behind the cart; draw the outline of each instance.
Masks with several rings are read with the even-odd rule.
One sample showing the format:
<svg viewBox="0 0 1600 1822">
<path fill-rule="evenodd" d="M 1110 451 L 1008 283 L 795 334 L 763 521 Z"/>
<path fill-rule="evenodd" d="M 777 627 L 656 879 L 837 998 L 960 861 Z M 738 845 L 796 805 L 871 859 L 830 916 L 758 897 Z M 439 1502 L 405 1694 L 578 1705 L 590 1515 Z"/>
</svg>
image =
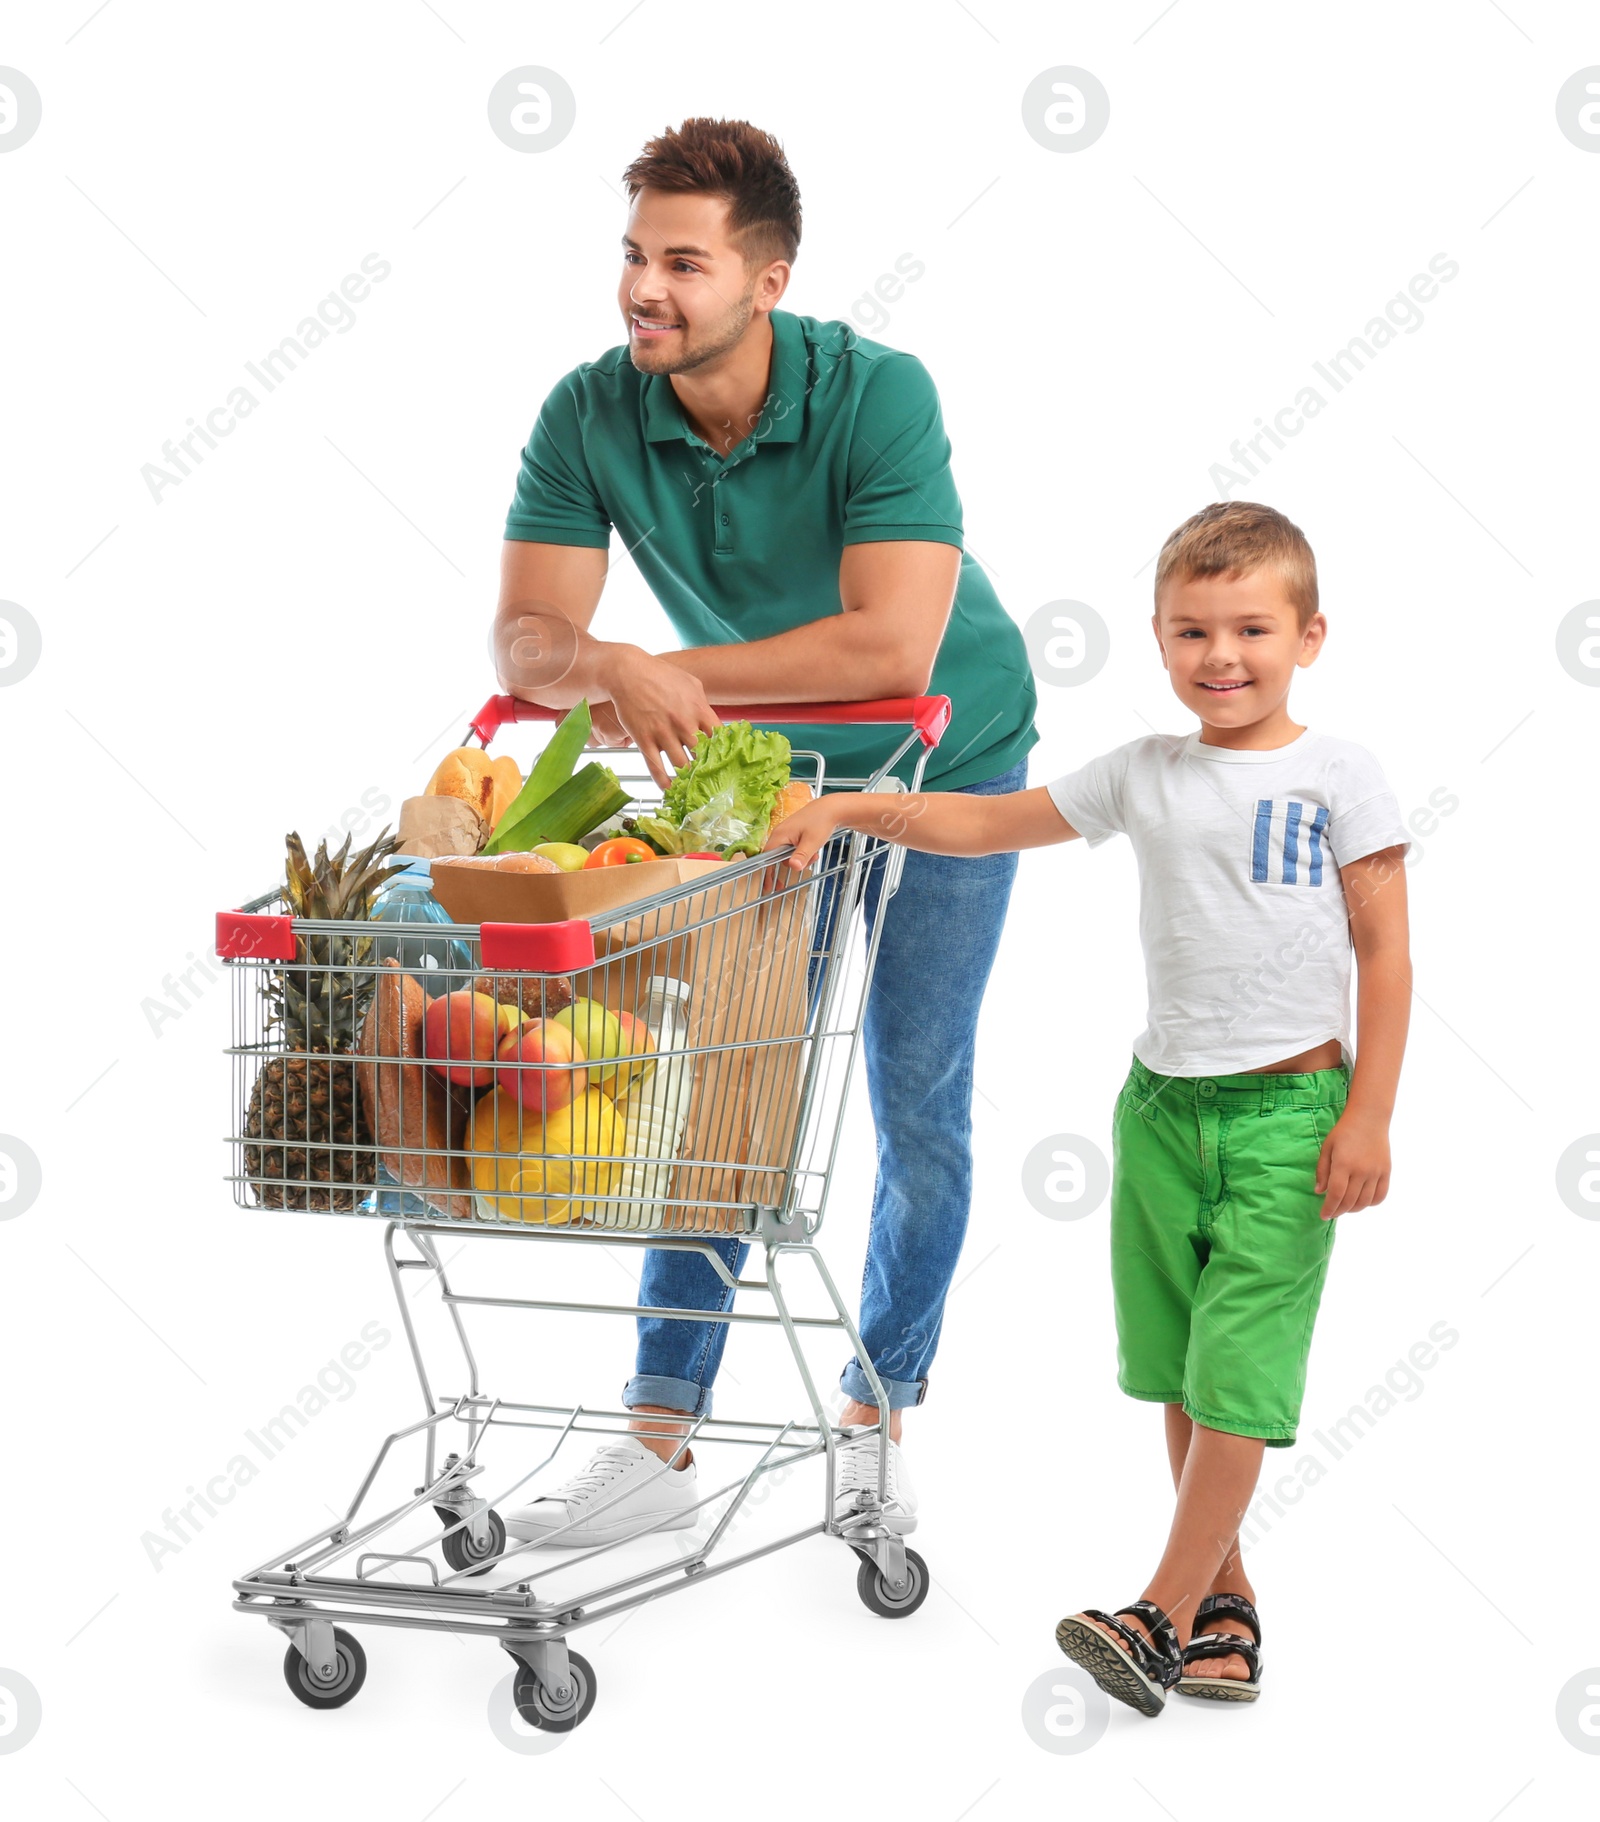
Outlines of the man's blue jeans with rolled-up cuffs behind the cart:
<svg viewBox="0 0 1600 1822">
<path fill-rule="evenodd" d="M 973 796 L 1028 785 L 1028 762 Z M 877 924 L 884 867 L 866 889 Z M 867 1091 L 878 1135 L 878 1177 L 862 1275 L 860 1337 L 889 1408 L 920 1405 L 938 1346 L 944 1299 L 955 1275 L 971 1204 L 971 1062 L 979 1002 L 1000 944 L 1017 876 L 1015 855 L 975 860 L 906 853 L 900 887 L 884 913 L 864 1024 Z M 829 906 L 818 907 L 826 918 Z M 711 1239 L 734 1277 L 747 1241 Z M 733 1292 L 700 1254 L 645 1254 L 640 1303 L 680 1310 L 729 1310 Z M 623 1405 L 711 1412 L 729 1323 L 641 1315 L 634 1377 Z M 855 1354 L 840 1376 L 849 1397 L 873 1390 Z"/>
</svg>

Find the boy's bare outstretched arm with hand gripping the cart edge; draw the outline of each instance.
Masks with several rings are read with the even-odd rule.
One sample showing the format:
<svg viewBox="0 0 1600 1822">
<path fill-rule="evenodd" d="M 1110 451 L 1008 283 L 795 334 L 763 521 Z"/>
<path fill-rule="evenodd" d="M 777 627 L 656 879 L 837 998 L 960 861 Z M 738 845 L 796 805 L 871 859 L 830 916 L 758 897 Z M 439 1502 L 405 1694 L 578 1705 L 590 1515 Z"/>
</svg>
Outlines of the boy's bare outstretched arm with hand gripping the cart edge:
<svg viewBox="0 0 1600 1822">
<path fill-rule="evenodd" d="M 835 791 L 802 804 L 767 838 L 787 847 L 791 867 L 807 865 L 836 829 L 880 834 L 924 855 L 1011 855 L 1021 847 L 1048 847 L 1077 840 L 1077 829 L 1055 807 L 1044 785 L 1002 796 L 964 791 Z"/>
</svg>

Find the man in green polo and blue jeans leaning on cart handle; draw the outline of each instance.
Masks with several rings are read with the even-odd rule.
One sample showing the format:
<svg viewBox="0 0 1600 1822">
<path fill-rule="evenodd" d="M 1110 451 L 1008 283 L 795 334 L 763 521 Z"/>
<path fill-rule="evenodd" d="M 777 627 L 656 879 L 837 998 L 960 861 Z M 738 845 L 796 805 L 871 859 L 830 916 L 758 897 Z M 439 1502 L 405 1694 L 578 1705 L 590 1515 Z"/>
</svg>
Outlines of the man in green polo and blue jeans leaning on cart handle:
<svg viewBox="0 0 1600 1822">
<path fill-rule="evenodd" d="M 778 308 L 800 244 L 782 148 L 740 120 L 685 120 L 625 180 L 627 343 L 558 383 L 523 450 L 494 627 L 501 685 L 549 707 L 589 698 L 601 742 L 632 742 L 663 785 L 718 725 L 714 703 L 937 692 L 953 718 L 924 783 L 1022 789 L 1033 678 L 962 556 L 938 395 L 911 355 Z M 589 630 L 612 528 L 683 650 Z M 829 776 L 864 778 L 887 754 L 882 729 L 805 738 Z M 878 1179 L 860 1334 L 889 1399 L 889 1509 L 906 1514 L 902 1410 L 926 1396 L 966 1233 L 971 1051 L 1015 867 L 1015 855 L 908 853 L 882 913 L 864 1029 Z M 736 1277 L 745 1244 L 716 1244 Z M 698 1254 L 645 1255 L 641 1305 L 725 1310 L 731 1297 Z M 507 1514 L 512 1536 L 570 1525 L 559 1541 L 590 1545 L 692 1523 L 692 1454 L 662 1419 L 711 1410 L 727 1326 L 641 1317 L 623 1403 L 652 1434 L 607 1445 Z M 880 1430 L 853 1356 L 840 1383 L 844 1512 L 877 1489 Z"/>
</svg>

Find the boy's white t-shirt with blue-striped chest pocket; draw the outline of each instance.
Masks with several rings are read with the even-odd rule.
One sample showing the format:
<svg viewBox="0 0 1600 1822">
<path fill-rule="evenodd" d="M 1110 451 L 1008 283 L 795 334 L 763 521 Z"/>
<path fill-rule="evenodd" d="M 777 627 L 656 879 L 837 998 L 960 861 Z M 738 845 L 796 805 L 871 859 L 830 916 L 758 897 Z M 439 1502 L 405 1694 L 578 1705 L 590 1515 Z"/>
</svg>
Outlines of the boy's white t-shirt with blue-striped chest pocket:
<svg viewBox="0 0 1600 1822">
<path fill-rule="evenodd" d="M 1314 729 L 1267 752 L 1146 734 L 1048 791 L 1090 847 L 1133 844 L 1148 1070 L 1236 1075 L 1330 1037 L 1354 1062 L 1339 867 L 1410 847 L 1365 747 Z"/>
</svg>

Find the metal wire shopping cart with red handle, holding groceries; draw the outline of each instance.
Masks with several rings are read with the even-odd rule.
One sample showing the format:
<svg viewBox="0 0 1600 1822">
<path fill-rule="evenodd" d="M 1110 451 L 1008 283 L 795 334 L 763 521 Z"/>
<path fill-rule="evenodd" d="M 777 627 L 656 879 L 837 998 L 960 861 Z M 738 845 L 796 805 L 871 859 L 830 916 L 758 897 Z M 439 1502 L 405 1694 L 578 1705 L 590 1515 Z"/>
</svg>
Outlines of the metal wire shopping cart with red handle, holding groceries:
<svg viewBox="0 0 1600 1822">
<path fill-rule="evenodd" d="M 949 720 L 949 703 L 942 696 L 918 696 L 769 703 L 722 714 L 796 729 L 906 727 L 871 778 L 827 778 L 822 754 L 804 751 L 793 754 L 793 776 L 811 782 L 816 793 L 915 791 L 928 751 Z M 468 738 L 488 745 L 505 722 L 554 718 L 554 711 L 497 696 L 474 718 Z M 909 785 L 902 785 L 893 767 L 918 743 Z M 654 807 L 649 776 L 625 776 L 623 783 L 632 789 L 636 807 Z M 231 975 L 233 1006 L 235 1201 L 244 1208 L 301 1208 L 383 1223 L 385 1263 L 425 1408 L 415 1423 L 383 1439 L 333 1523 L 233 1581 L 235 1611 L 261 1614 L 288 1636 L 284 1674 L 301 1702 L 339 1707 L 361 1687 L 366 1656 L 350 1625 L 481 1633 L 516 1660 L 514 1702 L 523 1720 L 567 1731 L 589 1715 L 596 1694 L 592 1665 L 569 1645 L 574 1631 L 815 1534 L 838 1538 L 856 1554 L 856 1587 L 875 1614 L 904 1618 L 920 1607 L 928 1569 L 906 1545 L 915 1520 L 884 1510 L 889 1423 L 884 1388 L 816 1248 L 882 931 L 877 920 L 867 938 L 864 891 L 878 869 L 880 902 L 887 904 L 902 862 L 904 849 L 878 834 L 840 834 L 800 875 L 774 865 L 773 855 L 751 856 L 720 867 L 685 867 L 692 876 L 590 918 L 454 922 L 426 929 L 426 964 L 436 988 L 488 986 L 499 1004 L 508 997 L 525 1018 L 528 1008 L 552 1015 L 554 1008 L 569 1009 L 581 1000 L 618 1013 L 672 1002 L 676 1022 L 660 1015 L 660 1028 L 654 1033 L 647 1028 L 652 1048 L 612 1053 L 601 1046 L 612 1062 L 614 1100 L 594 1088 L 574 1090 L 578 1071 L 569 1059 L 563 1079 L 559 1055 L 527 1066 L 532 1073 L 518 1075 L 516 1093 L 503 1097 L 499 1077 L 496 1086 L 481 1080 L 476 1068 L 481 1053 L 470 1039 L 459 1055 L 459 1073 L 479 1080 L 446 1090 L 437 1071 L 419 1060 L 415 1031 L 406 1024 L 406 995 L 415 1002 L 423 989 L 405 986 L 410 980 L 405 958 L 381 953 L 385 938 L 375 935 L 381 926 L 292 916 L 282 893 L 219 915 L 217 953 Z M 436 865 L 436 889 L 441 871 Z M 313 1011 L 364 1008 L 359 1051 L 330 1059 L 310 1044 L 286 1048 L 284 1026 L 275 1022 L 286 991 Z M 410 1013 L 414 1024 L 414 1004 Z M 272 1128 L 261 1113 L 257 1082 L 273 1064 L 275 1106 L 304 1108 L 310 1100 L 315 1108 L 330 1100 L 330 1091 L 333 1102 L 343 1091 L 346 1106 L 357 1097 L 379 1130 L 355 1139 L 348 1131 L 328 1135 L 328 1128 L 301 1117 L 286 1142 L 286 1128 Z M 634 1084 L 645 1071 L 656 1082 L 658 1108 L 662 1082 L 678 1084 L 678 1100 L 669 1108 L 671 1121 L 636 1119 L 640 1130 L 651 1124 L 658 1135 L 641 1161 L 627 1152 L 634 1141 L 625 1133 L 620 1139 L 618 1128 L 627 1126 L 627 1110 L 643 1095 Z M 286 1077 L 288 1095 L 299 1100 L 284 1099 Z M 527 1082 L 530 1091 L 523 1091 Z M 521 1106 L 512 1115 L 518 1095 Z M 490 1100 L 497 1110 L 492 1117 L 483 1113 Z M 574 1117 L 579 1106 L 589 1110 L 581 1119 Z M 667 1146 L 674 1148 L 671 1155 Z M 317 1164 L 315 1172 L 308 1161 Z M 729 1272 L 711 1239 L 729 1235 L 753 1243 L 747 1257 L 760 1263 L 760 1274 L 749 1266 L 740 1268 L 742 1275 Z M 441 1257 L 441 1248 L 457 1241 L 468 1244 L 448 1261 Z M 516 1297 L 505 1294 L 503 1274 L 490 1290 L 461 1290 L 446 1266 L 457 1255 L 481 1255 L 479 1241 L 667 1246 L 700 1254 L 729 1292 L 744 1292 L 745 1299 L 758 1294 L 769 1308 L 647 1310 L 594 1297 Z M 505 1264 L 505 1255 L 494 1252 Z M 791 1310 L 784 1268 L 796 1257 L 815 1272 L 831 1314 Z M 448 1323 L 439 1321 L 459 1345 L 459 1390 L 434 1390 L 408 1294 L 412 1274 L 421 1274 L 417 1290 L 432 1279 L 448 1314 Z M 516 1403 L 488 1394 L 479 1385 L 463 1321 L 468 1308 L 778 1326 L 811 1421 L 703 1416 L 671 1427 L 678 1454 L 694 1443 L 725 1441 L 753 1450 L 753 1459 L 747 1472 L 698 1501 L 703 1520 L 696 1523 L 709 1529 L 700 1538 L 674 1536 L 665 1560 L 643 1567 L 629 1560 L 621 1565 L 625 1572 L 614 1572 L 616 1561 L 596 1561 L 618 1549 L 636 1556 L 638 1536 L 583 1551 L 552 1549 L 549 1540 L 508 1543 L 497 1507 L 514 1494 L 536 1498 L 543 1490 L 539 1478 L 570 1438 L 620 1436 L 638 1419 L 625 1408 Z M 844 1430 L 824 1410 L 800 1345 L 802 1330 L 818 1328 L 847 1337 L 880 1412 L 878 1487 L 858 1494 L 842 1520 L 835 1516 L 835 1450 Z M 527 1447 L 518 1432 L 545 1432 L 549 1448 L 532 1467 L 512 1463 L 512 1479 L 490 1479 L 490 1456 L 499 1461 L 516 1443 Z M 663 1423 L 658 1434 L 669 1434 L 669 1427 Z M 441 1438 L 445 1443 L 459 1438 L 459 1447 L 443 1452 Z M 392 1458 L 403 1445 L 421 1445 L 421 1478 L 410 1496 L 368 1514 L 379 1474 L 395 1472 Z M 782 1481 L 787 1467 L 815 1456 L 824 1458 L 822 1516 L 776 1540 L 731 1551 L 729 1532 L 742 1510 L 760 1503 L 751 1501 L 753 1490 L 769 1476 Z M 667 1470 L 663 1461 L 660 1472 Z M 510 1470 L 497 1469 L 497 1476 L 505 1472 Z"/>
</svg>

